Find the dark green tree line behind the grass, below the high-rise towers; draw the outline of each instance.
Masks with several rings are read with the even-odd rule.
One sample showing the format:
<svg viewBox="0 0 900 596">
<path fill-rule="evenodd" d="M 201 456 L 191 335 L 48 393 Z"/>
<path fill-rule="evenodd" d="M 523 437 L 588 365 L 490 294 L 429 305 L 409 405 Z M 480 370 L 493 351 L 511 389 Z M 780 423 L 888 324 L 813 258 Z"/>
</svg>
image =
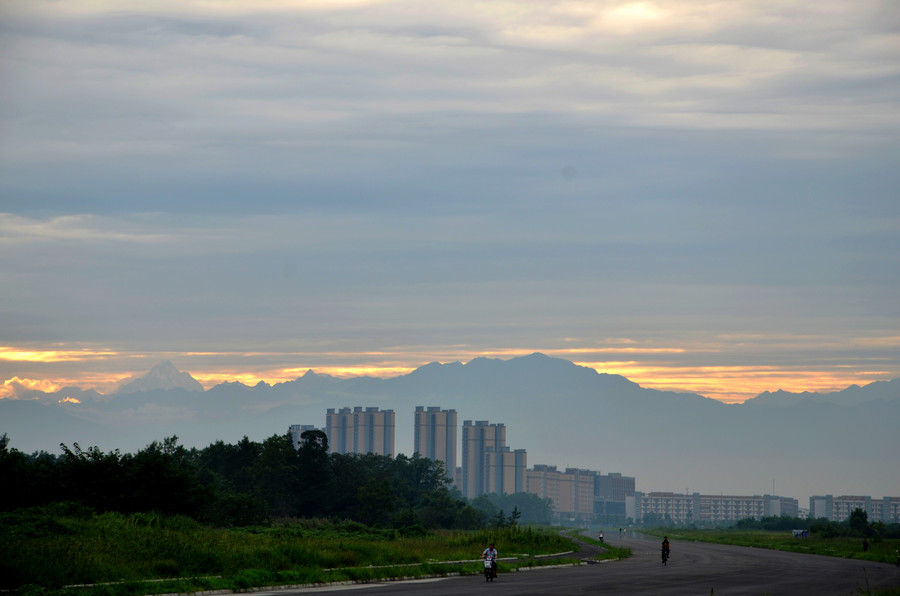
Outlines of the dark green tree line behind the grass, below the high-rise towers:
<svg viewBox="0 0 900 596">
<path fill-rule="evenodd" d="M 299 446 L 284 434 L 203 449 L 169 437 L 134 454 L 77 443 L 60 448 L 61 455 L 28 455 L 0 436 L 0 510 L 74 502 L 98 512 L 153 511 L 223 527 L 330 518 L 406 532 L 510 525 L 523 511 L 529 521 L 550 518 L 549 501 L 533 495 L 515 504 L 494 495 L 473 506 L 452 489 L 441 462 L 418 454 L 329 453 L 317 430 L 304 432 Z M 508 505 L 509 515 L 497 505 Z"/>
</svg>

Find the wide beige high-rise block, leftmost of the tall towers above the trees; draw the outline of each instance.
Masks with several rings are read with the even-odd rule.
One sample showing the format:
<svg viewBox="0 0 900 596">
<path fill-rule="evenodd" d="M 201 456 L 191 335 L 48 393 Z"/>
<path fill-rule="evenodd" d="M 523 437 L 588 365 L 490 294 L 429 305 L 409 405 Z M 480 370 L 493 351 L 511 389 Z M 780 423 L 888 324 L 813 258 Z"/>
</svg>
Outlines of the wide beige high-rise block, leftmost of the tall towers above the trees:
<svg viewBox="0 0 900 596">
<path fill-rule="evenodd" d="M 394 411 L 355 407 L 328 408 L 325 434 L 332 453 L 394 455 Z"/>
</svg>

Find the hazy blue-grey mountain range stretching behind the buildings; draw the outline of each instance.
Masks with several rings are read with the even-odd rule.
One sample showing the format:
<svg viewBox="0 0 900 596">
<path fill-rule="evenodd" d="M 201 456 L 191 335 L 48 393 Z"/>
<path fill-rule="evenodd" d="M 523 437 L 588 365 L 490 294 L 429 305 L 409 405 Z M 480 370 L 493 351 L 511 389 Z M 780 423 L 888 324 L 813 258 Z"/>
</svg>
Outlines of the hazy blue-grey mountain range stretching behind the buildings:
<svg viewBox="0 0 900 596">
<path fill-rule="evenodd" d="M 69 388 L 40 404 L 0 400 L 0 433 L 22 451 L 82 446 L 136 451 L 177 435 L 188 447 L 243 436 L 262 440 L 290 424 L 324 426 L 327 408 L 396 412 L 398 452 L 410 454 L 415 406 L 441 406 L 464 420 L 507 427 L 507 444 L 536 463 L 622 472 L 639 490 L 883 496 L 896 485 L 900 380 L 830 394 L 763 393 L 746 404 L 646 389 L 535 353 L 466 364 L 433 362 L 389 379 L 340 379 L 308 371 L 285 383 L 222 383 L 202 391 L 188 373 L 160 363 L 111 396 Z M 96 394 L 94 394 L 96 395 Z M 39 408 L 33 406 L 40 406 Z M 778 406 L 778 407 L 774 407 Z M 45 423 L 46 422 L 46 423 Z M 81 434 L 79 434 L 81 433 Z"/>
</svg>

